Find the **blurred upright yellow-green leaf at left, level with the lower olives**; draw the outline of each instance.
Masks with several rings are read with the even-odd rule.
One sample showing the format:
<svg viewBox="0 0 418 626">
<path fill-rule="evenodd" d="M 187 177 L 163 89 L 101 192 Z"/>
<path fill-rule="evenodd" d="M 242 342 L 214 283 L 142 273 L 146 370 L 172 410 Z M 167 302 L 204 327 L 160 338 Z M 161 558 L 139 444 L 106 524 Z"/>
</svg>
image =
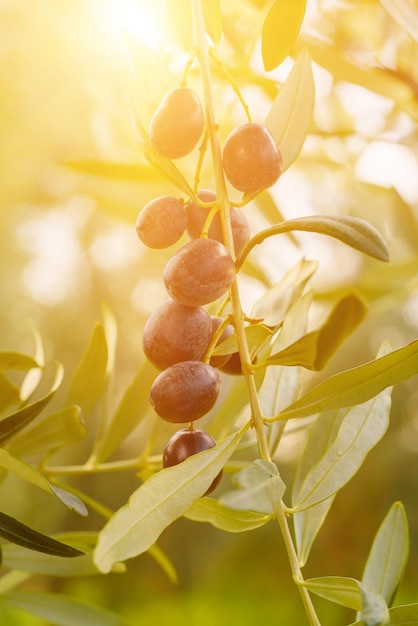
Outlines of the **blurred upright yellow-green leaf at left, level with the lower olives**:
<svg viewBox="0 0 418 626">
<path fill-rule="evenodd" d="M 108 348 L 104 327 L 97 322 L 67 395 L 67 403 L 78 404 L 85 417 L 89 415 L 103 391 L 107 362 Z"/>
</svg>

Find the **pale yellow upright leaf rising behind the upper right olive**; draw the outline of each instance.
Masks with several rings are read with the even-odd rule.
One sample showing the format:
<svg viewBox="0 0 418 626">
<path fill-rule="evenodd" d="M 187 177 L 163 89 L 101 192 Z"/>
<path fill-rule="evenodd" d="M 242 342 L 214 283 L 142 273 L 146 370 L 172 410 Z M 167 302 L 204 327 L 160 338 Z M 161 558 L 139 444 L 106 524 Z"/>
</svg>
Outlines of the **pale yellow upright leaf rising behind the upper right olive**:
<svg viewBox="0 0 418 626">
<path fill-rule="evenodd" d="M 315 105 L 315 83 L 309 53 L 303 50 L 265 119 L 280 149 L 283 171 L 296 160 L 311 126 Z"/>
</svg>

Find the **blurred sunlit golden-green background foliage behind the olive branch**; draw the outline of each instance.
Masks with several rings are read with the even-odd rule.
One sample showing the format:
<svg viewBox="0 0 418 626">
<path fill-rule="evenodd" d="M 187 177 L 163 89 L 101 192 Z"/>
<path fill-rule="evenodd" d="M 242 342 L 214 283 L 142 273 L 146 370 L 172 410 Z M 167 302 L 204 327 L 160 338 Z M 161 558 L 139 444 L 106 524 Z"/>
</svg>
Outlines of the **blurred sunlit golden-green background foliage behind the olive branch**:
<svg viewBox="0 0 418 626">
<path fill-rule="evenodd" d="M 405 2 L 416 17 L 417 3 Z M 324 310 L 353 289 L 368 305 L 366 320 L 343 350 L 324 371 L 306 374 L 310 385 L 374 358 L 384 340 L 396 349 L 417 337 L 418 37 L 414 22 L 405 29 L 396 10 L 403 3 L 308 0 L 291 57 L 266 73 L 260 33 L 271 4 L 221 1 L 223 36 L 217 58 L 239 86 L 253 119 L 263 120 L 291 70 L 291 59 L 307 50 L 314 61 L 315 112 L 295 163 L 271 196 L 263 194 L 245 209 L 252 230 L 270 226 L 280 215 L 361 217 L 384 236 L 391 259 L 379 263 L 331 238 L 296 233 L 264 242 L 244 265 L 242 291 L 248 308 L 266 284 L 282 278 L 303 257 L 319 261 L 313 278 L 313 328 Z M 46 363 L 63 363 L 64 380 L 48 409 L 53 416 L 64 406 L 70 411 L 73 398 L 82 395 L 77 366 L 89 341 L 97 341 L 97 349 L 103 350 L 103 336 L 109 345 L 116 344 L 111 361 L 117 375 L 106 402 L 118 405 L 142 362 L 145 319 L 165 297 L 161 274 L 171 251 L 150 254 L 139 244 L 134 224 L 146 202 L 177 191 L 145 160 L 132 111 L 146 125 L 165 89 L 181 79 L 190 30 L 179 19 L 182 12 L 167 14 L 162 0 L 137 0 L 157 23 L 159 39 L 152 43 L 162 59 L 158 66 L 156 55 L 146 47 L 149 40 L 143 43 L 135 34 L 138 15 L 127 12 L 134 5 L 117 0 L 0 2 L 0 347 L 36 355 L 38 363 L 44 350 Z M 245 112 L 222 65 L 213 67 L 225 136 L 245 120 Z M 199 89 L 194 66 L 188 79 Z M 193 159 L 182 161 L 188 180 L 194 175 Z M 205 161 L 201 186 L 211 185 L 213 174 Z M 86 362 L 84 367 L 91 369 Z M 31 371 L 35 375 L 36 370 Z M 99 394 L 107 372 L 90 374 Z M 12 384 L 0 379 L 2 398 L 10 394 L 12 402 L 25 375 L 13 371 Z M 51 380 L 52 371 L 39 388 L 39 381 L 26 381 L 38 394 L 35 400 L 51 393 Z M 150 431 L 155 450 L 161 451 L 170 432 L 169 426 L 148 419 L 142 391 L 135 398 L 136 404 L 129 406 L 138 410 L 140 427 L 118 450 L 106 442 L 105 453 L 114 454 L 111 458 L 139 454 L 144 433 Z M 313 547 L 307 576 L 330 571 L 360 576 L 381 520 L 400 499 L 410 522 L 411 557 L 397 601 L 416 600 L 416 405 L 415 378 L 395 389 L 389 431 L 337 496 Z M 89 418 L 95 428 L 103 427 L 100 411 L 94 406 Z M 117 433 L 118 443 L 125 434 Z M 79 425 L 74 442 L 54 456 L 54 463 L 83 463 L 92 443 L 91 433 L 84 436 Z M 293 472 L 300 442 L 298 432 L 291 433 L 280 468 L 284 476 Z M 104 451 L 96 453 L 100 457 Z M 36 460 L 36 455 L 29 458 Z M 132 472 L 123 472 L 123 480 L 120 476 L 98 473 L 69 482 L 115 510 L 139 484 Z M 94 510 L 81 519 L 50 493 L 18 477 L 3 478 L 2 510 L 46 534 L 96 532 L 103 525 Z M 180 620 L 190 625 L 267 622 L 276 619 L 277 603 L 281 623 L 299 621 L 299 598 L 290 591 L 291 576 L 276 528 L 267 525 L 248 534 L 225 535 L 207 524 L 181 519 L 163 534 L 161 548 L 173 560 L 178 585 L 145 555 L 129 563 L 125 575 L 36 575 L 22 580 L 23 588 L 88 599 L 144 625 L 156 620 L 173 625 Z M 341 607 L 325 606 L 321 600 L 315 604 L 325 623 L 350 619 Z M 0 619 L 16 626 L 48 623 L 2 605 Z"/>
</svg>

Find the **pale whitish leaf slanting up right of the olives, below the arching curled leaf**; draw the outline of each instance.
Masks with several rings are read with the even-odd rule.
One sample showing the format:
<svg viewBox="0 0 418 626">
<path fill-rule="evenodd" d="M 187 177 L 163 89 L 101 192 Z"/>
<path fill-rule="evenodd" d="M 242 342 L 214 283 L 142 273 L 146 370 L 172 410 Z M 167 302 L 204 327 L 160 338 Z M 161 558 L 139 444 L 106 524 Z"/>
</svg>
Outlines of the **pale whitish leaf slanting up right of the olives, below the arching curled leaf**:
<svg viewBox="0 0 418 626">
<path fill-rule="evenodd" d="M 267 326 L 279 325 L 293 302 L 303 293 L 306 283 L 318 268 L 316 261 L 302 259 L 285 276 L 257 300 L 251 316 L 264 320 Z"/>
</svg>

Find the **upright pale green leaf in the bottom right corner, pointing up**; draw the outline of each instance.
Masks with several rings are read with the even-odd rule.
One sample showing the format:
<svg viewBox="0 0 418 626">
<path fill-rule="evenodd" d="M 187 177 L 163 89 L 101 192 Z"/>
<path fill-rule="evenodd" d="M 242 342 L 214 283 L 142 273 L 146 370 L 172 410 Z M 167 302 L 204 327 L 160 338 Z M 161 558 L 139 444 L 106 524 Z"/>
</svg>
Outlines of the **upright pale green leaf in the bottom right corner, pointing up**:
<svg viewBox="0 0 418 626">
<path fill-rule="evenodd" d="M 408 520 L 395 502 L 374 538 L 362 580 L 379 592 L 390 606 L 406 568 L 409 554 Z"/>
</svg>

